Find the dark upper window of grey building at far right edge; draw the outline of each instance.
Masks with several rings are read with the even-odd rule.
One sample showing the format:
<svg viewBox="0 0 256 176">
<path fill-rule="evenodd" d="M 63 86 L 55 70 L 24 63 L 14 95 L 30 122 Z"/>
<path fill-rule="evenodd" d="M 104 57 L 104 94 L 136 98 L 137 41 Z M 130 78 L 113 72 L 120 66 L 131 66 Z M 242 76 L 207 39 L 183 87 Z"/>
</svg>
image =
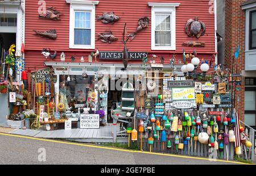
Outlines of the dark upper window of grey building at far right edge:
<svg viewBox="0 0 256 176">
<path fill-rule="evenodd" d="M 256 10 L 250 11 L 249 49 L 256 49 Z"/>
</svg>

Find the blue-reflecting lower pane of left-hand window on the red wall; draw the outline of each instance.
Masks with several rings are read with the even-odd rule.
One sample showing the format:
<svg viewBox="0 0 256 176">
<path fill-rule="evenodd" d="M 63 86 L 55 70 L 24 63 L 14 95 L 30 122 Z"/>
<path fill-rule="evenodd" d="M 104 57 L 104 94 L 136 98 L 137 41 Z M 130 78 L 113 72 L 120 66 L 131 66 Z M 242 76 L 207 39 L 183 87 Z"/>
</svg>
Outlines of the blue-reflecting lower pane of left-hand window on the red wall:
<svg viewBox="0 0 256 176">
<path fill-rule="evenodd" d="M 90 30 L 75 29 L 75 45 L 90 45 Z"/>
</svg>

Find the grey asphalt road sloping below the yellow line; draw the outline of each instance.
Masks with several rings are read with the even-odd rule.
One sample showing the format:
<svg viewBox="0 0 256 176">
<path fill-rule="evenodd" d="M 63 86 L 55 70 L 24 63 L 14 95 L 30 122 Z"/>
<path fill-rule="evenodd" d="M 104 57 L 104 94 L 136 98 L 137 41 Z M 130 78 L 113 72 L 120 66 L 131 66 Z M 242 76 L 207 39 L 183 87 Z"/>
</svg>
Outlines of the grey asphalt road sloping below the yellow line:
<svg viewBox="0 0 256 176">
<path fill-rule="evenodd" d="M 44 152 L 46 153 L 45 157 Z M 6 136 L 0 133 L 0 164 L 226 165 L 234 163 L 61 144 L 52 141 Z"/>
</svg>

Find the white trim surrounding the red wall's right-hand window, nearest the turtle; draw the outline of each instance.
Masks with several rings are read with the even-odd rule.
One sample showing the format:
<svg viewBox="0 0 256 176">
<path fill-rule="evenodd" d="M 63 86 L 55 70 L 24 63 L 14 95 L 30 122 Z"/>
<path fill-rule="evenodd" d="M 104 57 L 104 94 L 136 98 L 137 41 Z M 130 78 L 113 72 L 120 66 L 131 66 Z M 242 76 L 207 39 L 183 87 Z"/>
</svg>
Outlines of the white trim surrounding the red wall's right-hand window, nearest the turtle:
<svg viewBox="0 0 256 176">
<path fill-rule="evenodd" d="M 151 7 L 151 50 L 176 50 L 176 8 L 180 3 L 148 2 Z M 171 47 L 155 46 L 155 13 L 171 14 Z"/>
</svg>

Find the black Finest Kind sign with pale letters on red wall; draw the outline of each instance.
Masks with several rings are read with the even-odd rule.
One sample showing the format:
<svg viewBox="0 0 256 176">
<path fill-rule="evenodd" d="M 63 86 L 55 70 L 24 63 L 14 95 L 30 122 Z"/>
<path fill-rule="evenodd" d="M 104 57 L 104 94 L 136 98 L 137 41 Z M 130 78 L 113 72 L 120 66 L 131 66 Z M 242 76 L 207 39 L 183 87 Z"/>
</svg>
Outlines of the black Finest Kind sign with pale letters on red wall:
<svg viewBox="0 0 256 176">
<path fill-rule="evenodd" d="M 147 58 L 147 52 L 128 52 L 128 58 L 132 60 Z M 122 60 L 123 52 L 117 51 L 100 51 L 100 59 L 113 59 L 113 60 Z"/>
</svg>

